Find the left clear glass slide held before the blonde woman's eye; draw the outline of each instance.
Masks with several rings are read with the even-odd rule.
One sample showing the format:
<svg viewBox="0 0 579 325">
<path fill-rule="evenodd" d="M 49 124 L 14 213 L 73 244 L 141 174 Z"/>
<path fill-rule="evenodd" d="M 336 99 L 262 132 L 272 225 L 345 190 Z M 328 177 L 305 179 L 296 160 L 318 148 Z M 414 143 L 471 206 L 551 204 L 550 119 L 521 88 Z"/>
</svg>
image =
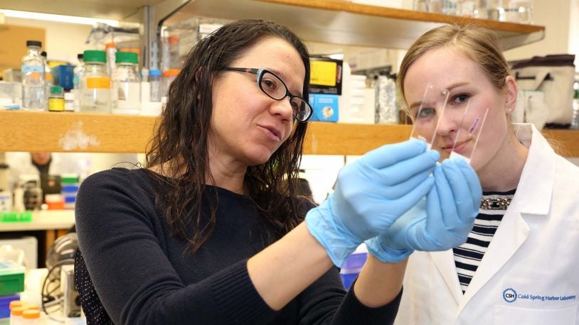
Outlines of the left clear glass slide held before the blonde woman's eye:
<svg viewBox="0 0 579 325">
<path fill-rule="evenodd" d="M 410 115 L 413 116 L 411 139 L 425 141 L 428 148 L 432 148 L 440 117 L 445 112 L 448 94 L 447 89 L 437 88 L 432 84 L 428 84 L 422 101 L 411 104 Z"/>
</svg>

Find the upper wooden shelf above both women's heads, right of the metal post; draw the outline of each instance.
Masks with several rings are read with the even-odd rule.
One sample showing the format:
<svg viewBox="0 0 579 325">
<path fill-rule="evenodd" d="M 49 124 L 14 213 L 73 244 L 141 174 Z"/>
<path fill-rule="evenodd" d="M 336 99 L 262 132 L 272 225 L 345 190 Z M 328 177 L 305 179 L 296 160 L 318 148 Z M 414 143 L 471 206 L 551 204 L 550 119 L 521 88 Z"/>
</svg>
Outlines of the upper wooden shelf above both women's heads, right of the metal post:
<svg viewBox="0 0 579 325">
<path fill-rule="evenodd" d="M 341 45 L 406 49 L 425 31 L 445 23 L 491 28 L 504 50 L 545 37 L 543 26 L 425 13 L 341 0 L 193 0 L 166 19 L 171 26 L 193 16 L 229 20 L 265 18 L 289 27 L 304 40 Z"/>
</svg>

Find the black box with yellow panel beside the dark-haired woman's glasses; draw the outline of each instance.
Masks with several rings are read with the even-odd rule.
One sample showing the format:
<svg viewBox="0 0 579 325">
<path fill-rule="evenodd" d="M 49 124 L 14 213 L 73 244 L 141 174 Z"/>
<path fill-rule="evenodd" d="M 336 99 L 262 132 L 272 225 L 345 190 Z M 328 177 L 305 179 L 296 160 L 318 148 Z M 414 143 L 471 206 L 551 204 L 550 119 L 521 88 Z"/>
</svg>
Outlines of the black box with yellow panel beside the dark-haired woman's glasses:
<svg viewBox="0 0 579 325">
<path fill-rule="evenodd" d="M 311 57 L 309 75 L 310 94 L 341 95 L 344 62 L 329 57 Z"/>
</svg>

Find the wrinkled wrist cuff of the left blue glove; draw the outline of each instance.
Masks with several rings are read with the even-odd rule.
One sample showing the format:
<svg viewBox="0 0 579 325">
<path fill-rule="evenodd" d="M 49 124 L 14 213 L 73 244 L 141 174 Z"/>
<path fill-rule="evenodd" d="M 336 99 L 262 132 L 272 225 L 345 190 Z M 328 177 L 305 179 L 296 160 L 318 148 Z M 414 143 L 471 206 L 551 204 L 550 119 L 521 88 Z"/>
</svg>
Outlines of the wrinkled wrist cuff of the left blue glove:
<svg viewBox="0 0 579 325">
<path fill-rule="evenodd" d="M 306 226 L 309 233 L 326 248 L 326 252 L 331 258 L 332 263 L 338 268 L 344 264 L 344 260 L 356 250 L 360 243 L 352 241 L 349 236 L 344 236 L 342 231 L 336 228 L 336 225 L 327 216 L 324 216 L 324 208 L 327 205 L 315 207 L 308 211 L 306 215 Z"/>
</svg>

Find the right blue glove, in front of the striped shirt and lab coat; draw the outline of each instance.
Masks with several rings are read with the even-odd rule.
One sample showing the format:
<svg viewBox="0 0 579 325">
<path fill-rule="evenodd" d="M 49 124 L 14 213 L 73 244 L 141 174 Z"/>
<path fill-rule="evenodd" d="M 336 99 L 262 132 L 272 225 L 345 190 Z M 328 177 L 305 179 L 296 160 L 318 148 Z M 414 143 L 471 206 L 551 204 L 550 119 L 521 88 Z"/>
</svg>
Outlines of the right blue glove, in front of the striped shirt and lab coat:
<svg viewBox="0 0 579 325">
<path fill-rule="evenodd" d="M 366 241 L 385 263 L 403 260 L 413 250 L 447 250 L 467 241 L 479 212 L 479 178 L 464 160 L 445 160 L 434 172 L 435 186 L 400 216 L 386 233 Z"/>
</svg>

